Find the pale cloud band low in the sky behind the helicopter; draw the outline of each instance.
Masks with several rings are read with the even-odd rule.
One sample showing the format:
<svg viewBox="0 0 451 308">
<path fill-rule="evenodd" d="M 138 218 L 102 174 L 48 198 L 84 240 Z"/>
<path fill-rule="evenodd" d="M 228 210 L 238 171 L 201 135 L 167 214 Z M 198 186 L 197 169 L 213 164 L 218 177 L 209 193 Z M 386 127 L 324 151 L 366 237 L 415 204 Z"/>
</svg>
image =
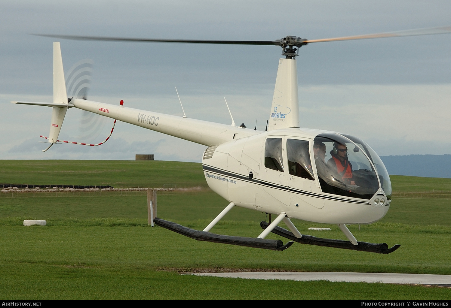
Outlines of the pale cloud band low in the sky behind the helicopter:
<svg viewBox="0 0 451 308">
<path fill-rule="evenodd" d="M 189 95 L 183 90 L 179 92 L 189 118 L 230 124 L 222 95 Z M 450 94 L 451 84 L 301 86 L 300 124 L 301 127 L 358 136 L 380 155 L 449 154 Z M 244 122 L 252 129 L 258 118 L 257 127 L 264 130 L 269 117 L 272 91 L 226 97 L 237 123 Z M 117 104 L 117 99 L 108 96 L 96 96 L 92 99 Z M 167 96 L 129 96 L 125 105 L 182 115 L 175 93 Z M 203 145 L 118 121 L 111 139 L 105 145 L 95 148 L 55 145 L 42 154 L 40 149 L 43 145 L 37 141 L 41 141 L 38 138 L 40 134 L 45 136 L 48 133 L 51 109 L 32 107 L 40 114 L 36 118 L 35 112 L 23 112 L 28 107 L 12 104 L 7 106 L 7 114 L 0 122 L 0 128 L 8 132 L 0 136 L 0 141 L 5 144 L 5 150 L 0 151 L 3 158 L 133 159 L 133 154 L 156 154 L 156 159 L 199 162 L 205 149 Z M 15 116 L 19 111 L 20 117 Z M 107 119 L 103 131 L 95 140 L 79 140 L 77 136 L 81 116 L 82 111 L 69 109 L 60 140 L 98 143 L 108 136 L 111 119 Z M 21 125 L 17 129 L 11 129 L 17 118 L 21 119 Z"/>
</svg>

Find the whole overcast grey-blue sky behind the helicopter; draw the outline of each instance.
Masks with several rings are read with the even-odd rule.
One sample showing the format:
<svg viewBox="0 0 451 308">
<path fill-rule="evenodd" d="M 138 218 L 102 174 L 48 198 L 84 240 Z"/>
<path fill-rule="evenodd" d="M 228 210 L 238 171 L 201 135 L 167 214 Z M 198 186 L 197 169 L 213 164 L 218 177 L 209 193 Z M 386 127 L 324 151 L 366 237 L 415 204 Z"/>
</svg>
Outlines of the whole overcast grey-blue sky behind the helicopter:
<svg viewBox="0 0 451 308">
<path fill-rule="evenodd" d="M 46 153 L 52 101 L 51 38 L 30 33 L 168 39 L 308 39 L 451 26 L 450 1 L 1 1 L 0 159 L 201 161 L 205 146 L 118 122 L 98 147 L 55 145 Z M 94 61 L 88 99 L 235 122 L 264 130 L 281 48 L 276 46 L 60 40 L 67 72 Z M 301 127 L 349 133 L 379 155 L 451 154 L 451 34 L 309 44 L 298 61 Z M 60 139 L 100 142 L 112 120 L 83 137 L 69 109 Z M 100 116 L 99 116 L 100 118 Z M 100 120 L 99 120 L 100 121 Z"/>
</svg>

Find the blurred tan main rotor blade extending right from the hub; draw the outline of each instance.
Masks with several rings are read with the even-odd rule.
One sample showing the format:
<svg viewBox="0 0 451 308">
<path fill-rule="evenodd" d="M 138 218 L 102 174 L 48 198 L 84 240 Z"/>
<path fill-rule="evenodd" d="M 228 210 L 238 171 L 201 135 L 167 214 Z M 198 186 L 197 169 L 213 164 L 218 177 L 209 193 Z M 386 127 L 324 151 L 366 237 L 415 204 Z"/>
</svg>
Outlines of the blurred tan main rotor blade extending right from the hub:
<svg viewBox="0 0 451 308">
<path fill-rule="evenodd" d="M 350 41 L 350 40 L 363 40 L 370 38 L 383 38 L 383 37 L 397 37 L 397 36 L 417 36 L 417 35 L 430 35 L 430 34 L 444 34 L 451 33 L 451 27 L 435 27 L 435 28 L 422 28 L 422 29 L 412 29 L 403 30 L 395 32 L 382 32 L 373 33 L 365 35 L 355 35 L 355 36 L 342 36 L 342 37 L 332 37 L 327 39 L 319 40 L 307 40 L 306 43 L 318 43 L 318 42 L 331 42 L 331 41 Z"/>
</svg>

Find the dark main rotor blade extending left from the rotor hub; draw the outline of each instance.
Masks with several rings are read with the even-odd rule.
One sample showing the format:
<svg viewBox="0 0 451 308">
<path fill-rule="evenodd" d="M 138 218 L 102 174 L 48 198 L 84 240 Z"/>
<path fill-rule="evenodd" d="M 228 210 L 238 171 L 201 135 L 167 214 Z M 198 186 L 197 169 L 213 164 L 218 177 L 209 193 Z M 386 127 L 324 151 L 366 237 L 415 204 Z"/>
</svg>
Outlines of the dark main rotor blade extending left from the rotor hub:
<svg viewBox="0 0 451 308">
<path fill-rule="evenodd" d="M 166 43 L 198 43 L 198 44 L 233 44 L 233 45 L 276 45 L 278 41 L 216 41 L 216 40 L 166 40 L 166 39 L 143 39 L 127 37 L 109 37 L 109 36 L 78 36 L 78 35 L 52 35 L 52 34 L 34 34 L 37 36 L 55 37 L 68 40 L 79 41 L 124 41 L 124 42 L 166 42 Z"/>
</svg>

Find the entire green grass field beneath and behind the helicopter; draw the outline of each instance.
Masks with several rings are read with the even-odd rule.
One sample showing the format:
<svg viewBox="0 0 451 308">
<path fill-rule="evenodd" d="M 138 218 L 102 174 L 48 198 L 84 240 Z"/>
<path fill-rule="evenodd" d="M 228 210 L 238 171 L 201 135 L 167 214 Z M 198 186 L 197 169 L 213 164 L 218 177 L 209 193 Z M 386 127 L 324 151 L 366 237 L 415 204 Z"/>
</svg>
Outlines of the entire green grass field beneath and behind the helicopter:
<svg viewBox="0 0 451 308">
<path fill-rule="evenodd" d="M 207 187 L 196 163 L 161 161 L 0 161 L 0 182 Z M 391 177 L 393 191 L 435 191 L 451 179 Z M 431 184 L 433 183 L 433 184 Z M 414 189 L 413 189 L 414 187 Z M 395 195 L 396 195 L 395 194 Z M 394 198 L 381 222 L 350 226 L 358 240 L 401 244 L 388 255 L 296 244 L 283 252 L 191 240 L 147 226 L 143 193 L 0 195 L 0 297 L 4 299 L 451 299 L 419 285 L 259 281 L 179 275 L 226 269 L 406 272 L 451 275 L 451 199 Z M 227 205 L 205 188 L 158 193 L 158 216 L 202 229 Z M 266 215 L 234 208 L 212 232 L 258 236 Z M 23 219 L 47 226 L 22 226 Z M 304 234 L 345 239 L 332 231 Z M 277 236 L 271 234 L 271 238 Z M 283 239 L 285 242 L 285 239 Z"/>
</svg>

